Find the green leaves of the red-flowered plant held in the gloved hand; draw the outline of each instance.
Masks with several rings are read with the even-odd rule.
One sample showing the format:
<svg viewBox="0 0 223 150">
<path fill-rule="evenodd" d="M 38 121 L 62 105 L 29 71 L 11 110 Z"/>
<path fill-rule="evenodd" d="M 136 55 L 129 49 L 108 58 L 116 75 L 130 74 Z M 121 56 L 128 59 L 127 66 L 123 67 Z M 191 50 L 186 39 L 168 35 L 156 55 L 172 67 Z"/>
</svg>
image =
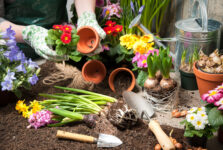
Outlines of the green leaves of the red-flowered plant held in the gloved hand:
<svg viewBox="0 0 223 150">
<path fill-rule="evenodd" d="M 79 41 L 79 36 L 77 35 L 77 30 L 72 29 L 71 31 L 71 42 L 68 44 L 65 44 L 61 41 L 61 35 L 63 34 L 63 31 L 61 30 L 55 30 L 50 29 L 48 31 L 48 36 L 46 37 L 46 43 L 48 46 L 52 47 L 57 55 L 71 55 L 71 58 L 74 58 L 80 56 L 77 53 L 74 53 L 76 51 L 76 45 Z"/>
</svg>

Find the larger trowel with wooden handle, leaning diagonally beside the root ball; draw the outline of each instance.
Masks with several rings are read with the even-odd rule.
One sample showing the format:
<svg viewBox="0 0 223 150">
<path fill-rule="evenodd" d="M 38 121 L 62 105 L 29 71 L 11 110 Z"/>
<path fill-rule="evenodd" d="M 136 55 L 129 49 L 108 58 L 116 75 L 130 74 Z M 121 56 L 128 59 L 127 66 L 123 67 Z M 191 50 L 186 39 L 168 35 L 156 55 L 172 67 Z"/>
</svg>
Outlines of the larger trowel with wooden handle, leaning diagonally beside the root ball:
<svg viewBox="0 0 223 150">
<path fill-rule="evenodd" d="M 162 130 L 159 123 L 150 119 L 154 114 L 152 105 L 146 102 L 142 96 L 139 96 L 134 92 L 125 91 L 122 95 L 127 105 L 129 105 L 129 107 L 132 109 L 135 109 L 139 117 L 143 119 L 145 116 L 147 118 L 149 121 L 149 129 L 154 133 L 161 147 L 164 150 L 175 150 L 175 146 L 166 133 Z"/>
</svg>

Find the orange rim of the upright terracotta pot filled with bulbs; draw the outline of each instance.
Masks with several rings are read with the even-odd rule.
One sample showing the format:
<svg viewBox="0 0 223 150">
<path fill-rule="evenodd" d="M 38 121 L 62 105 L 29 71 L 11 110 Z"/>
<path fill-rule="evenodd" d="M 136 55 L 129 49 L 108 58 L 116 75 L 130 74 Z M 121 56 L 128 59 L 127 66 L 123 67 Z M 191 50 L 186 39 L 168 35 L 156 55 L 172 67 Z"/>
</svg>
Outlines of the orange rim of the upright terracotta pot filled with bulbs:
<svg viewBox="0 0 223 150">
<path fill-rule="evenodd" d="M 214 74 L 214 73 L 206 73 L 197 68 L 197 62 L 194 63 L 193 65 L 193 71 L 196 77 L 201 78 L 203 80 L 207 81 L 223 81 L 223 74 Z"/>
</svg>

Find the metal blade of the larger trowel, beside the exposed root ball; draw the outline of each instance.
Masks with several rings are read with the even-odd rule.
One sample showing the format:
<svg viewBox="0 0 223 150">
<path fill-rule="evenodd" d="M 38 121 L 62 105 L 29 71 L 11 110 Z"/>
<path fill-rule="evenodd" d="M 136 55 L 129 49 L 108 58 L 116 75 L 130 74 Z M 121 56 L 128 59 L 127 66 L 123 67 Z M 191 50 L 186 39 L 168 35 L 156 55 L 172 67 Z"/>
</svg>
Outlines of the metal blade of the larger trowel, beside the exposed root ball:
<svg viewBox="0 0 223 150">
<path fill-rule="evenodd" d="M 127 105 L 130 108 L 136 110 L 139 118 L 142 117 L 143 113 L 146 113 L 150 118 L 153 116 L 154 111 L 153 111 L 152 104 L 147 102 L 146 99 L 143 98 L 142 96 L 131 91 L 123 92 L 122 96 L 125 102 L 127 103 Z M 148 118 L 145 117 L 145 119 L 148 119 Z"/>
</svg>

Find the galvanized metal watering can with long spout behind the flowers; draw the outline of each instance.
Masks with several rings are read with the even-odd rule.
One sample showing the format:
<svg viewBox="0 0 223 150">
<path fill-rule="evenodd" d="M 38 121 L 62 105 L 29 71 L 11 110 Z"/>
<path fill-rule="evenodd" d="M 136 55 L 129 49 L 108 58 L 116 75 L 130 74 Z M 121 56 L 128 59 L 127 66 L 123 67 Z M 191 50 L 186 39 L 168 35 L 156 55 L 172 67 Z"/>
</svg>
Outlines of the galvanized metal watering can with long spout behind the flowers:
<svg viewBox="0 0 223 150">
<path fill-rule="evenodd" d="M 159 40 L 153 36 L 158 47 L 166 48 L 161 42 L 176 42 L 175 53 L 171 52 L 171 56 L 174 58 L 175 70 L 179 69 L 184 50 L 187 51 L 186 60 L 188 60 L 195 49 L 202 50 L 206 55 L 209 55 L 215 49 L 220 48 L 222 24 L 216 20 L 208 19 L 207 8 L 203 0 L 194 0 L 192 8 L 192 18 L 175 23 L 176 37 Z M 200 10 L 201 18 L 197 17 L 198 10 Z M 130 23 L 129 28 L 137 26 L 144 34 L 152 34 L 140 23 L 140 18 L 141 14 Z"/>
</svg>

